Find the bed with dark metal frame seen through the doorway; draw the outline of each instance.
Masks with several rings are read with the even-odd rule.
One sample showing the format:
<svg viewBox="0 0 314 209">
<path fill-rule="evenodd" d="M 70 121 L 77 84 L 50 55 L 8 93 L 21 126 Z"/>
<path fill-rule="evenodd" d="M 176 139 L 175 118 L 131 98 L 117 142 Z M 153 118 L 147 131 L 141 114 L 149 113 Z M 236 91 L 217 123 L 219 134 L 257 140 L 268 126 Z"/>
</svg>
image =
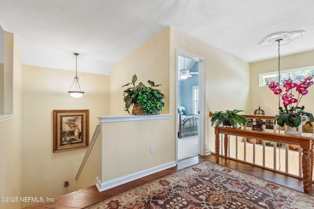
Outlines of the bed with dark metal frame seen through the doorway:
<svg viewBox="0 0 314 209">
<path fill-rule="evenodd" d="M 198 135 L 198 115 L 179 115 L 179 138 Z"/>
</svg>

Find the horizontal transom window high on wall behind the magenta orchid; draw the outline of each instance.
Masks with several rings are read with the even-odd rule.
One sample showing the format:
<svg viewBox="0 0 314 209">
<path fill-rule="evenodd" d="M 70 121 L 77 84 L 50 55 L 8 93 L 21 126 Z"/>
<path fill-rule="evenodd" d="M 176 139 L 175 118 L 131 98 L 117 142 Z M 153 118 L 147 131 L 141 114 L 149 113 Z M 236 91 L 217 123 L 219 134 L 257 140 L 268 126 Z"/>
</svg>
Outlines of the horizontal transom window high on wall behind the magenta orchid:
<svg viewBox="0 0 314 209">
<path fill-rule="evenodd" d="M 280 84 L 284 83 L 284 80 L 291 78 L 294 82 L 300 83 L 300 81 L 310 75 L 314 74 L 314 66 L 306 68 L 297 68 L 292 70 L 280 71 Z M 267 83 L 274 81 L 277 82 L 278 72 L 267 72 L 260 74 L 260 87 L 266 86 Z"/>
</svg>

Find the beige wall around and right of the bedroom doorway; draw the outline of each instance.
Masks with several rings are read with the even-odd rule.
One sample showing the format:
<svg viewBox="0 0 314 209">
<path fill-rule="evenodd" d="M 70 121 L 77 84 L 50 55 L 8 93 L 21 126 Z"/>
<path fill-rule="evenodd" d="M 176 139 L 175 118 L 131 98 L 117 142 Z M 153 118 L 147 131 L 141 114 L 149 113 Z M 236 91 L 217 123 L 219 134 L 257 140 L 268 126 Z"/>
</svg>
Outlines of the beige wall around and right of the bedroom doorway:
<svg viewBox="0 0 314 209">
<path fill-rule="evenodd" d="M 205 143 L 207 150 L 214 150 L 214 129 L 209 124 L 209 111 L 247 111 L 250 101 L 249 63 L 174 28 L 171 28 L 170 37 L 171 98 L 176 97 L 176 49 L 205 58 Z M 176 112 L 174 102 L 171 103 L 172 113 Z"/>
</svg>

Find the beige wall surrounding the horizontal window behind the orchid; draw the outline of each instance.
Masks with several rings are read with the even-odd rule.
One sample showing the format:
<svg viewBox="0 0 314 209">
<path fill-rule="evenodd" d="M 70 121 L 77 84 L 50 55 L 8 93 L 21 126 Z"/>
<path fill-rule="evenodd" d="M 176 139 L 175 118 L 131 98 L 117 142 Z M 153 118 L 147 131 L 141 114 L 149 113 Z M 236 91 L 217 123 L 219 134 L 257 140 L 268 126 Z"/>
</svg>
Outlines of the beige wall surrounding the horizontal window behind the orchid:
<svg viewBox="0 0 314 209">
<path fill-rule="evenodd" d="M 313 57 L 314 51 L 283 56 L 280 58 L 280 69 L 290 70 L 314 66 Z M 278 58 L 251 63 L 250 69 L 251 105 L 249 113 L 253 114 L 254 110 L 261 106 L 265 115 L 275 115 L 278 111 L 278 96 L 268 87 L 259 87 L 259 74 L 278 71 Z M 305 106 L 305 111 L 314 113 L 314 87 L 311 86 L 308 90 L 309 93 L 302 97 L 300 104 Z M 280 105 L 283 107 L 282 100 L 280 100 Z"/>
</svg>

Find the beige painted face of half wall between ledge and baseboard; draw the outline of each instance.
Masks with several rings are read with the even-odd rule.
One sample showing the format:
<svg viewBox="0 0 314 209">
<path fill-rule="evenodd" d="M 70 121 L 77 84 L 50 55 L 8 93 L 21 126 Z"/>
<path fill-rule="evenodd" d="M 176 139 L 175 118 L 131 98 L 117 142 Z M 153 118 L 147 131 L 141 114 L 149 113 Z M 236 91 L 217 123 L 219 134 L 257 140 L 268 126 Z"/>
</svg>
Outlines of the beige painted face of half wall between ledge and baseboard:
<svg viewBox="0 0 314 209">
<path fill-rule="evenodd" d="M 167 128 L 171 123 L 171 119 L 103 123 L 102 182 L 175 161 L 173 130 Z"/>
</svg>

